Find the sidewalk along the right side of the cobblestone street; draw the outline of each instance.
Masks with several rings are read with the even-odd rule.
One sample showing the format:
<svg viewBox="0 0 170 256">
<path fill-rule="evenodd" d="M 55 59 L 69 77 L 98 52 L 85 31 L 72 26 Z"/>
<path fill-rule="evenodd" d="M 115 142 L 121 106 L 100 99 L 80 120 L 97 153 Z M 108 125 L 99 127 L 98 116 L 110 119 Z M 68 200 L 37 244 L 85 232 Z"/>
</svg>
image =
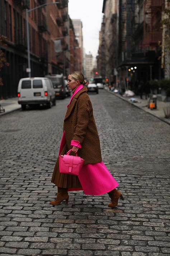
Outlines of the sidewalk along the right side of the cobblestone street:
<svg viewBox="0 0 170 256">
<path fill-rule="evenodd" d="M 133 96 L 132 98 L 137 98 L 140 101 L 140 102 L 133 103 L 130 101 L 131 97 L 123 97 L 120 94 L 113 93 L 112 91 L 109 91 L 109 90 L 107 90 L 107 91 L 109 93 L 112 93 L 115 96 L 129 102 L 130 104 L 135 105 L 136 107 L 142 109 L 143 111 L 145 111 L 149 114 L 152 114 L 153 116 L 159 118 L 160 120 L 162 120 L 170 125 L 170 118 L 165 118 L 164 110 L 163 110 L 163 108 L 166 105 L 170 105 L 170 102 L 161 102 L 161 101 L 157 100 L 157 109 L 151 110 L 150 108 L 147 107 L 147 100 L 145 99 L 145 96 L 143 96 L 143 99 L 140 99 L 140 96 Z"/>
</svg>

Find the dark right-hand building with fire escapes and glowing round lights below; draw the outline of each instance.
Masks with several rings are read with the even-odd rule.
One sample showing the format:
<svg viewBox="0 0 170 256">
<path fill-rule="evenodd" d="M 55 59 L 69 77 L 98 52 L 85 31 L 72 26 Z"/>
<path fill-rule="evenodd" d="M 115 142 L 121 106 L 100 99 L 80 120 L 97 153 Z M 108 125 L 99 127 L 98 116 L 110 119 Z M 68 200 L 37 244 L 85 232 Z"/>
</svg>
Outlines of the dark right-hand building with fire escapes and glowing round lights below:
<svg viewBox="0 0 170 256">
<path fill-rule="evenodd" d="M 165 0 L 119 1 L 118 80 L 137 93 L 137 85 L 164 77 L 161 69 L 161 18 Z M 134 68 L 135 67 L 135 68 Z"/>
</svg>

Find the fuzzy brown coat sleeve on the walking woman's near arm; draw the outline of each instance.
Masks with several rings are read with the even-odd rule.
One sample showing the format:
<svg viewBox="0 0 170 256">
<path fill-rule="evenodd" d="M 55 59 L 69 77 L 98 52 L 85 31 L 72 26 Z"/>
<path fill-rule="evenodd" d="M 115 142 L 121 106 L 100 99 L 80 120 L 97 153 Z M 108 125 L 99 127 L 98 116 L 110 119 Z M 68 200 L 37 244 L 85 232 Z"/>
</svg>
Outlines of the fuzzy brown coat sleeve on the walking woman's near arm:
<svg viewBox="0 0 170 256">
<path fill-rule="evenodd" d="M 75 133 L 73 134 L 72 140 L 79 140 L 82 145 L 86 130 L 89 122 L 90 115 L 90 106 L 89 102 L 84 102 L 83 100 L 79 100 L 78 102 L 78 110 L 77 110 L 77 125 L 75 129 Z"/>
</svg>

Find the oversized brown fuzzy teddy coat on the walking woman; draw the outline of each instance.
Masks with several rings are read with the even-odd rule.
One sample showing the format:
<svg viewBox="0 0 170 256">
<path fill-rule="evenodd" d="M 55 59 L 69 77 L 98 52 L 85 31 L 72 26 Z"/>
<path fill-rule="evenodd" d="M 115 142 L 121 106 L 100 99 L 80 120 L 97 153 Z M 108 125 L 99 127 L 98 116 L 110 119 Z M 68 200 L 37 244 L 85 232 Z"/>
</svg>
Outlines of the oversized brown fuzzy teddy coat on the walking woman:
<svg viewBox="0 0 170 256">
<path fill-rule="evenodd" d="M 84 158 L 84 164 L 102 161 L 93 107 L 85 86 L 71 100 L 64 119 L 64 130 L 69 149 L 72 148 L 71 140 L 79 140 L 81 149 L 78 156 Z"/>
</svg>

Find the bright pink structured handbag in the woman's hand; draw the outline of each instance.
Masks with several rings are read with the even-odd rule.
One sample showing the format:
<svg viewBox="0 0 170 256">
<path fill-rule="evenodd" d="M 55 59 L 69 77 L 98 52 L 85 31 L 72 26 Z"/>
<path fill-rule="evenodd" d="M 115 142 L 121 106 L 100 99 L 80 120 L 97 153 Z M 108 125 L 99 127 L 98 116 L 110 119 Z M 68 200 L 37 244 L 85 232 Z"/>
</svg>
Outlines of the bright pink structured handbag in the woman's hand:
<svg viewBox="0 0 170 256">
<path fill-rule="evenodd" d="M 70 149 L 66 155 L 59 156 L 59 170 L 60 173 L 79 175 L 79 172 L 83 166 L 84 159 L 77 156 L 70 156 Z"/>
</svg>

